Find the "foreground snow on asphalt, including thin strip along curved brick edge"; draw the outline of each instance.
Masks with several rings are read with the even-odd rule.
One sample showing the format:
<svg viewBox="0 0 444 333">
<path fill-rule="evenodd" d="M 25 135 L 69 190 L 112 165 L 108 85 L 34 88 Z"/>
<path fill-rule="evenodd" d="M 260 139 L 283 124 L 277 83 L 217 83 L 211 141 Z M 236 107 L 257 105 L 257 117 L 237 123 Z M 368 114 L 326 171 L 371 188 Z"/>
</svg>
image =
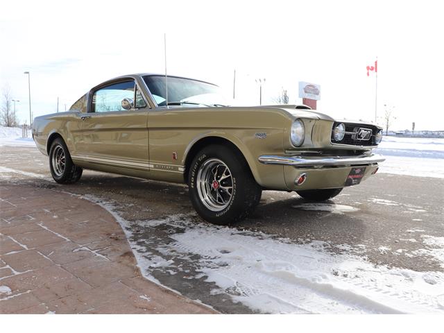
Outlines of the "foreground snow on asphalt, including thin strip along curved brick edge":
<svg viewBox="0 0 444 333">
<path fill-rule="evenodd" d="M 375 266 L 355 255 L 359 251 L 350 250 L 347 244 L 336 246 L 348 249 L 337 254 L 323 241 L 293 244 L 262 232 L 198 223 L 189 215 L 132 223 L 119 215 L 113 203 L 94 196 L 83 198 L 98 203 L 119 221 L 142 274 L 157 283 L 153 271 L 174 273 L 173 268 L 180 268 L 174 259 L 153 255 L 150 246 L 141 245 L 132 233 L 135 226 L 171 228 L 171 241 L 157 245 L 157 253 L 174 253 L 176 260 L 197 260 L 198 275 L 194 278 L 204 276 L 207 282 L 214 282 L 218 288 L 212 294 L 227 293 L 234 301 L 260 312 L 444 314 L 441 272 Z M 435 257 L 444 264 L 442 237 L 423 238 L 425 245 L 432 244 L 432 250 L 441 251 Z M 423 250 L 433 255 L 432 250 Z"/>
</svg>

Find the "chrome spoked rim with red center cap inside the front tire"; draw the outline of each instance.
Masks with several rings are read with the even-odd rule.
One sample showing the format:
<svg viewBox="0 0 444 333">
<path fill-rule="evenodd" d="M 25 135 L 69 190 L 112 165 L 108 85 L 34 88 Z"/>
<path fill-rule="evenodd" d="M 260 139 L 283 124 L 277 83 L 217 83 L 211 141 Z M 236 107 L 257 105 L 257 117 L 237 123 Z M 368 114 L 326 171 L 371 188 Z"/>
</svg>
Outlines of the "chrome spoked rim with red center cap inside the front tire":
<svg viewBox="0 0 444 333">
<path fill-rule="evenodd" d="M 197 173 L 197 190 L 200 201 L 213 212 L 230 204 L 233 178 L 227 164 L 217 158 L 206 160 Z"/>
</svg>

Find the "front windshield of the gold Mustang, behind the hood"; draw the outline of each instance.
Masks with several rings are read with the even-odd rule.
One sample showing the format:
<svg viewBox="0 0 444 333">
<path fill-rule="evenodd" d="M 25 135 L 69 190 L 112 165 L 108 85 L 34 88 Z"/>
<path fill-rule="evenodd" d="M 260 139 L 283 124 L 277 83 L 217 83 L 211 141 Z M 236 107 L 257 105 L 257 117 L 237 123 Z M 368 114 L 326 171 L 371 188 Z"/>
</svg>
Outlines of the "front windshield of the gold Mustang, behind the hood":
<svg viewBox="0 0 444 333">
<path fill-rule="evenodd" d="M 143 78 L 157 105 L 166 106 L 165 77 L 144 76 Z M 225 106 L 227 101 L 222 95 L 221 88 L 216 85 L 189 78 L 168 76 L 168 104 L 185 107 Z"/>
</svg>

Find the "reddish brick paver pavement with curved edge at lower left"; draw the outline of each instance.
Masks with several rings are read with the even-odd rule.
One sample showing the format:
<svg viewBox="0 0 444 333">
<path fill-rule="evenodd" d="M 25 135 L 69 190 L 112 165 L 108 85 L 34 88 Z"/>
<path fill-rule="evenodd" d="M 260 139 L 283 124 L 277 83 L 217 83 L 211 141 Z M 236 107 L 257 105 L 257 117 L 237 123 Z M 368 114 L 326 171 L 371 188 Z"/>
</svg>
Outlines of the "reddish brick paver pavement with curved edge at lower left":
<svg viewBox="0 0 444 333">
<path fill-rule="evenodd" d="M 0 185 L 1 314 L 211 314 L 142 277 L 123 230 L 87 200 Z"/>
</svg>

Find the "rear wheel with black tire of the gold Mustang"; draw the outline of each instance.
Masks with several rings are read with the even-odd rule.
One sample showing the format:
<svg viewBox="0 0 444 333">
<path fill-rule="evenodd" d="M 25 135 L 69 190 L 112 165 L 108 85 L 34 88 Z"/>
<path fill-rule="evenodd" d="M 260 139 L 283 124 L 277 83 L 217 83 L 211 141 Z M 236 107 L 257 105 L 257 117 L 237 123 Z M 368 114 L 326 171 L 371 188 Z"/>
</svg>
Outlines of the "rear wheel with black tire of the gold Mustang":
<svg viewBox="0 0 444 333">
<path fill-rule="evenodd" d="M 51 144 L 49 150 L 49 169 L 56 182 L 60 184 L 72 184 L 82 176 L 83 169 L 77 167 L 71 160 L 67 145 L 58 137 Z"/>
</svg>

